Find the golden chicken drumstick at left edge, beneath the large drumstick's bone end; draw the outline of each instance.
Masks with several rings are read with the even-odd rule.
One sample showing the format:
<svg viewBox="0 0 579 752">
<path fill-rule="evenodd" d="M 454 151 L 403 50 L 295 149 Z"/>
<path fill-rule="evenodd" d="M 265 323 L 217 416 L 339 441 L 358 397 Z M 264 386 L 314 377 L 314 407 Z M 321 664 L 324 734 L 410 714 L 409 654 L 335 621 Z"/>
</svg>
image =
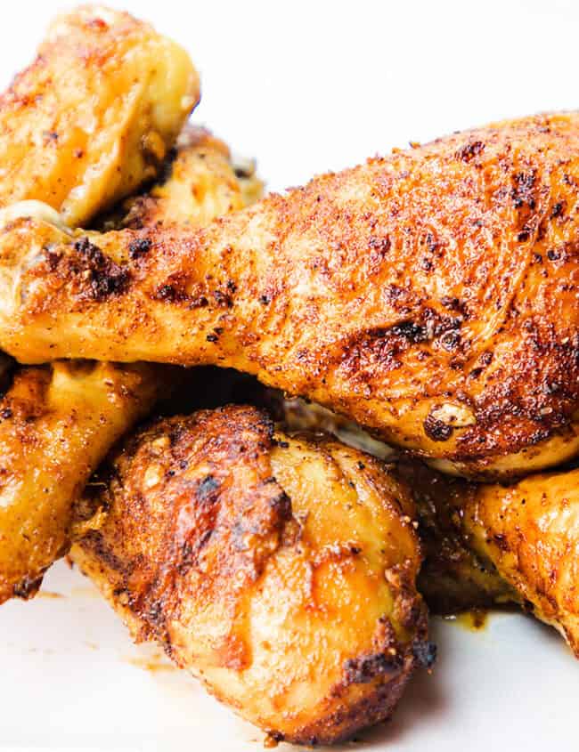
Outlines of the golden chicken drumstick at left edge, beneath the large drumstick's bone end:
<svg viewBox="0 0 579 752">
<path fill-rule="evenodd" d="M 72 502 L 159 397 L 158 370 L 55 362 L 16 372 L 0 400 L 0 603 L 35 594 L 67 552 Z"/>
</svg>

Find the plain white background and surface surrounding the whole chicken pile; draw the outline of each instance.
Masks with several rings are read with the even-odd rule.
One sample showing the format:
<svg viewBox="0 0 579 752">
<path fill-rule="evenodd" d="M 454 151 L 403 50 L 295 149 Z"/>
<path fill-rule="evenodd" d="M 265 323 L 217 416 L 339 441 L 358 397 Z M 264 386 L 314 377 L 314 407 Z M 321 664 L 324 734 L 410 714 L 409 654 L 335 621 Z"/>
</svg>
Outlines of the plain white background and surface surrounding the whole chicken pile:
<svg viewBox="0 0 579 752">
<path fill-rule="evenodd" d="M 579 106 L 573 2 L 110 4 L 187 47 L 203 83 L 194 119 L 256 156 L 274 190 L 410 140 Z M 67 7 L 2 5 L 0 84 Z M 185 675 L 147 669 L 151 651 L 130 645 L 77 574 L 61 565 L 47 589 L 65 597 L 0 610 L 0 747 L 261 748 Z M 435 635 L 435 674 L 355 748 L 577 748 L 579 664 L 550 631 L 502 615 L 482 633 L 436 624 Z"/>
</svg>

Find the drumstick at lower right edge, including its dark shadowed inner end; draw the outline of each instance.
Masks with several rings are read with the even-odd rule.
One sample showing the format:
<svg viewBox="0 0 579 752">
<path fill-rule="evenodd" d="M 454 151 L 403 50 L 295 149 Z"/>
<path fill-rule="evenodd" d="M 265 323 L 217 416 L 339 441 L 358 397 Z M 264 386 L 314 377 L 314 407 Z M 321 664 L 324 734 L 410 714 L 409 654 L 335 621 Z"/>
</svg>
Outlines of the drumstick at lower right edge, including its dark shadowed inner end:
<svg viewBox="0 0 579 752">
<path fill-rule="evenodd" d="M 579 470 L 511 485 L 444 477 L 413 462 L 425 562 L 420 593 L 436 612 L 516 602 L 579 658 Z"/>
</svg>

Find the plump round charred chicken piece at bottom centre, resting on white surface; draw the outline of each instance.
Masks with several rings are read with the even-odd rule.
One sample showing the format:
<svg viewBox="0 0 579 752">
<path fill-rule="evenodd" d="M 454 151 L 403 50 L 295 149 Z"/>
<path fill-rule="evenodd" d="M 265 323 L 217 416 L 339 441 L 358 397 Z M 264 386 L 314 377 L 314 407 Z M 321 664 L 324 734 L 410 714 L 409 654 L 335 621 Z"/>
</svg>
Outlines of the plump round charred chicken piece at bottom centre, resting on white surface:
<svg viewBox="0 0 579 752">
<path fill-rule="evenodd" d="M 404 484 L 334 441 L 229 406 L 145 427 L 99 474 L 72 557 L 126 620 L 277 739 L 389 716 L 429 664 Z"/>
</svg>

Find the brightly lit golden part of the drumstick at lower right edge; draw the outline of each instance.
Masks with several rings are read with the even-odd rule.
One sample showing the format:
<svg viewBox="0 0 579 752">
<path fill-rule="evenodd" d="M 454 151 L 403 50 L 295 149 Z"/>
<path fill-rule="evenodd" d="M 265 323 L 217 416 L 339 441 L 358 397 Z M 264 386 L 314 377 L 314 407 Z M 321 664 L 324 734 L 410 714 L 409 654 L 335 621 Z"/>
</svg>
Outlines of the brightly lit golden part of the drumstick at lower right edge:
<svg viewBox="0 0 579 752">
<path fill-rule="evenodd" d="M 460 484 L 451 504 L 469 547 L 579 658 L 579 470 L 510 487 Z"/>
</svg>

